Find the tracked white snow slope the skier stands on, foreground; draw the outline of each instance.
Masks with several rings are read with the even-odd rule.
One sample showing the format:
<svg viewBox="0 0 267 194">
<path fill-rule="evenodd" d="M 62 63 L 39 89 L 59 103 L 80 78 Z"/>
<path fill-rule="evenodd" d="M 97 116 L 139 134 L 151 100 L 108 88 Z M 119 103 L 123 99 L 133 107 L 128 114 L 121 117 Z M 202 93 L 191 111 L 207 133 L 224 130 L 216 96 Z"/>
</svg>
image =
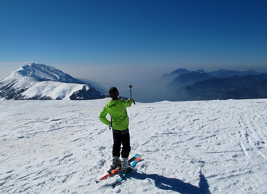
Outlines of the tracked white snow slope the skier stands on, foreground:
<svg viewBox="0 0 267 194">
<path fill-rule="evenodd" d="M 0 193 L 267 193 L 267 99 L 136 103 L 142 160 L 114 189 L 109 99 L 0 101 Z"/>
</svg>

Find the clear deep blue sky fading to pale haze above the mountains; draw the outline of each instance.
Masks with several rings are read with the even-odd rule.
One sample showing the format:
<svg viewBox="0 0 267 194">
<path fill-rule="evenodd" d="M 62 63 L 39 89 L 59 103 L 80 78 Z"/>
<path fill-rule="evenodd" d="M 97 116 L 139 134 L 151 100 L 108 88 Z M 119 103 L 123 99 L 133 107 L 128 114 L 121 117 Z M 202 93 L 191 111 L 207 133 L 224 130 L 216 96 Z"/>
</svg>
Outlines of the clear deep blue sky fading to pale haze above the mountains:
<svg viewBox="0 0 267 194">
<path fill-rule="evenodd" d="M 28 62 L 106 83 L 267 72 L 267 1 L 2 1 L 0 77 Z M 121 80 L 120 80 L 120 79 Z"/>
</svg>

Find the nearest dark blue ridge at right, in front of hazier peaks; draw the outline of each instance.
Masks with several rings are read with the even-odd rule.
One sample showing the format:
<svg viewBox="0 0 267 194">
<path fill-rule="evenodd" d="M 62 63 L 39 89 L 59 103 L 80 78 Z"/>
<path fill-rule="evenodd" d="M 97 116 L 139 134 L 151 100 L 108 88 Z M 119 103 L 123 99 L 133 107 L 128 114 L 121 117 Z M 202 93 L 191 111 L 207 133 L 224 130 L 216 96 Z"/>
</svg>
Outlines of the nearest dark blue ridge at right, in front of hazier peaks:
<svg viewBox="0 0 267 194">
<path fill-rule="evenodd" d="M 184 86 L 175 94 L 180 100 L 267 98 L 267 74 L 207 79 Z"/>
</svg>

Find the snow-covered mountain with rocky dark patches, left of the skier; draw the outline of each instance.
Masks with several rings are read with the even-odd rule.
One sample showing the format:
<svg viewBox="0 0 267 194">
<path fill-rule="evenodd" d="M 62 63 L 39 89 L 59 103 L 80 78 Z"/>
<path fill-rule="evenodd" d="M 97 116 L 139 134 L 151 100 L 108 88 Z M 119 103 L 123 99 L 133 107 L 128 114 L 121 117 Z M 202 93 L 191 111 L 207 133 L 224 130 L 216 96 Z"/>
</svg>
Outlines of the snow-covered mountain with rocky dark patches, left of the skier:
<svg viewBox="0 0 267 194">
<path fill-rule="evenodd" d="M 88 100 L 105 97 L 106 94 L 92 86 L 44 64 L 29 63 L 0 80 L 0 98 L 6 100 Z"/>
</svg>

